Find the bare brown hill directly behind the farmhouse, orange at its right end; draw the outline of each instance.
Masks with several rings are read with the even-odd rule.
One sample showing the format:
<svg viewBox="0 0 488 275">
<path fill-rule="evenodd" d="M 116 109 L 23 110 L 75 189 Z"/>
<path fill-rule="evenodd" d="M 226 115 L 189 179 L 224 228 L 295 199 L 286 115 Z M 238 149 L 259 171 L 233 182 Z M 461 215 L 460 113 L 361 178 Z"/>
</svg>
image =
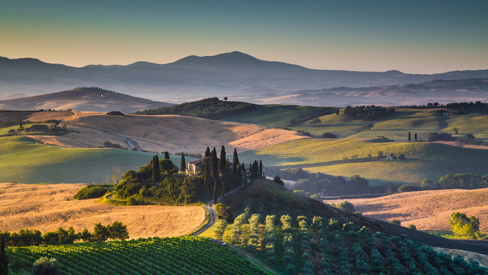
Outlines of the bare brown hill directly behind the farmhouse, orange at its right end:
<svg viewBox="0 0 488 275">
<path fill-rule="evenodd" d="M 65 123 L 80 133 L 55 137 L 48 143 L 96 147 L 103 140 L 121 143 L 120 136 L 123 136 L 137 148 L 148 151 L 203 153 L 207 146 L 224 145 L 242 152 L 304 138 L 297 132 L 283 129 L 177 115 L 110 116 L 81 112 L 67 118 Z M 43 142 L 42 137 L 33 138 Z"/>
</svg>

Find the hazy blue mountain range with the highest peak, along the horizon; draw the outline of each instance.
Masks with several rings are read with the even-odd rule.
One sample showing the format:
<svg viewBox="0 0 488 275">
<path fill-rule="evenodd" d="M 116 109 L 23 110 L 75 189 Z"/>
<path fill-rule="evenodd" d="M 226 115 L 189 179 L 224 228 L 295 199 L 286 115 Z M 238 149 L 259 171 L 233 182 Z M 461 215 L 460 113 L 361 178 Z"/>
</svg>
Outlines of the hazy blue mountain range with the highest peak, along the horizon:
<svg viewBox="0 0 488 275">
<path fill-rule="evenodd" d="M 405 74 L 397 70 L 315 70 L 264 61 L 238 51 L 215 56 L 188 56 L 167 64 L 136 62 L 81 68 L 30 58 L 0 58 L 0 94 L 47 93 L 66 86 L 102 86 L 133 96 L 174 102 L 212 96 L 255 96 L 262 91 L 283 94 L 340 86 L 405 85 L 466 78 L 488 78 L 488 70 L 433 75 Z"/>
</svg>

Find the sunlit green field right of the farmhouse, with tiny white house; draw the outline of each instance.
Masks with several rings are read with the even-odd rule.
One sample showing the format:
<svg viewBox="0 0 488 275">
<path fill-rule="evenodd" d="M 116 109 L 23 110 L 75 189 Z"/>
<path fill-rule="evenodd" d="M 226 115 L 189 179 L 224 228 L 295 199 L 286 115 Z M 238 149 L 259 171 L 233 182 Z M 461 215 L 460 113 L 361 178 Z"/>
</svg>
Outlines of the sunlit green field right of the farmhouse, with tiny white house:
<svg viewBox="0 0 488 275">
<path fill-rule="evenodd" d="M 264 166 L 300 167 L 346 177 L 359 174 L 373 185 L 386 182 L 420 184 L 424 178 L 435 181 L 448 173 L 488 174 L 488 150 L 428 142 L 381 141 L 385 140 L 302 139 L 246 151 L 239 157 L 246 163 L 262 159 Z M 404 154 L 406 159 L 379 160 L 376 158 L 378 151 L 383 151 L 385 156 Z M 369 154 L 371 159 L 367 159 Z"/>
</svg>

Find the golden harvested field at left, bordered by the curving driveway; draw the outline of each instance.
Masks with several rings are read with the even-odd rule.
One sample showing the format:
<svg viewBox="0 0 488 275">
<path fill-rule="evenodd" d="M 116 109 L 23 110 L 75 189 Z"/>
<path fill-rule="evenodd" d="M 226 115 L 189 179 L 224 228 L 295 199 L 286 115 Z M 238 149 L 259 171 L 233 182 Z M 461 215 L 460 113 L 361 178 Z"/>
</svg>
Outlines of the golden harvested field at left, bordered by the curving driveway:
<svg viewBox="0 0 488 275">
<path fill-rule="evenodd" d="M 0 184 L 1 231 L 37 229 L 41 233 L 72 226 L 93 231 L 121 221 L 130 238 L 179 236 L 196 231 L 205 220 L 200 206 L 116 206 L 97 199 L 73 200 L 82 184 Z"/>
</svg>

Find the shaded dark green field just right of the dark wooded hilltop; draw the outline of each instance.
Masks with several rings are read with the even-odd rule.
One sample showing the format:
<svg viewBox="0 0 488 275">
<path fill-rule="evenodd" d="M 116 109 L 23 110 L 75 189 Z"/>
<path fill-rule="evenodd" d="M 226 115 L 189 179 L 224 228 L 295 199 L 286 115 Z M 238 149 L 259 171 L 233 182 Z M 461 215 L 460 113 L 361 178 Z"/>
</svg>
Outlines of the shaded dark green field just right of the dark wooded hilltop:
<svg viewBox="0 0 488 275">
<path fill-rule="evenodd" d="M 243 114 L 230 116 L 224 121 L 257 124 L 267 127 L 287 127 L 290 119 L 303 119 L 331 111 L 329 107 L 257 105 L 256 109 Z"/>
</svg>

